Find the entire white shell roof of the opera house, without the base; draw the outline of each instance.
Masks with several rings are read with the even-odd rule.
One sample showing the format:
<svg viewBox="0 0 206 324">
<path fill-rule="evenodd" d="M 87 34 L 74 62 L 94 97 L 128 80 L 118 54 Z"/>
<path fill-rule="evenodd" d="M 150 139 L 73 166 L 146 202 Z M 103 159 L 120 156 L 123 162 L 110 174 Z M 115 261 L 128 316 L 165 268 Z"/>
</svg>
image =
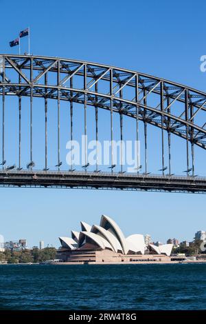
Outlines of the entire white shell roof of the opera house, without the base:
<svg viewBox="0 0 206 324">
<path fill-rule="evenodd" d="M 128 254 L 128 252 L 131 252 L 133 254 L 140 252 L 141 254 L 145 254 L 146 245 L 144 236 L 141 234 L 133 234 L 125 238 L 117 223 L 109 216 L 102 215 L 100 225 L 93 225 L 91 227 L 91 225 L 84 221 L 81 221 L 80 224 L 82 228 L 81 232 L 72 230 L 71 238 L 59 237 L 62 247 L 73 250 L 87 243 L 85 245 L 87 249 L 95 249 L 98 246 L 102 250 L 109 249 L 115 253 Z M 157 246 L 149 244 L 148 247 L 150 251 L 157 254 L 170 256 L 173 245 L 163 244 Z"/>
</svg>

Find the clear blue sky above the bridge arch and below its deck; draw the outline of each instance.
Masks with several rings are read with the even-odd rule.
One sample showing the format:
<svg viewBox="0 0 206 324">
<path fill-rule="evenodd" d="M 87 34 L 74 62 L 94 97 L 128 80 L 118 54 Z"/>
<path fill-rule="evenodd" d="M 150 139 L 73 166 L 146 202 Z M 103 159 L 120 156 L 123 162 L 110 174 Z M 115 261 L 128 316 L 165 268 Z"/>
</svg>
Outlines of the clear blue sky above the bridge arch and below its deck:
<svg viewBox="0 0 206 324">
<path fill-rule="evenodd" d="M 116 65 L 206 90 L 203 0 L 0 0 L 0 6 L 1 53 L 16 54 L 8 43 L 30 26 L 33 54 Z M 205 154 L 200 165 L 206 174 Z M 198 194 L 0 188 L 0 195 L 0 234 L 30 246 L 40 240 L 58 246 L 58 236 L 78 230 L 81 220 L 99 223 L 101 214 L 126 235 L 149 233 L 154 241 L 191 241 L 206 230 L 205 196 Z"/>
</svg>

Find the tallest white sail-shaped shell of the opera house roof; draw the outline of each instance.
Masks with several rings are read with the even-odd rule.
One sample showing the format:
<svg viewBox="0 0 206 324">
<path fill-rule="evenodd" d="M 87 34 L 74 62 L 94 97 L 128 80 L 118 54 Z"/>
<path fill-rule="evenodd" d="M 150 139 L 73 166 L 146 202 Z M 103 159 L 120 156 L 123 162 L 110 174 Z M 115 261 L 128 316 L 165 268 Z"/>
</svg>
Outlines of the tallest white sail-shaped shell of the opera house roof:
<svg viewBox="0 0 206 324">
<path fill-rule="evenodd" d="M 128 252 L 128 247 L 126 245 L 126 239 L 124 237 L 124 234 L 122 233 L 122 230 L 120 230 L 119 226 L 113 219 L 106 215 L 102 215 L 101 221 L 100 221 L 100 226 L 104 227 L 105 230 L 108 230 L 111 232 L 113 235 L 116 236 L 117 240 L 122 246 L 122 250 L 124 254 L 127 254 Z"/>
</svg>

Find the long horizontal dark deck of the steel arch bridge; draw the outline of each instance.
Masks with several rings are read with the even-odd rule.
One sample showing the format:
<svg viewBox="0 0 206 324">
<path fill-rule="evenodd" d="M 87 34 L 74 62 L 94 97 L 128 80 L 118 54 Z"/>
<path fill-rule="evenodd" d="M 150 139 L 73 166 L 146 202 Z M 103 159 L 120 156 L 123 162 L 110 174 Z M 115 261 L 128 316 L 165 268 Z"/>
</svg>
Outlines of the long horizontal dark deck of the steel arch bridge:
<svg viewBox="0 0 206 324">
<path fill-rule="evenodd" d="M 1 170 L 0 186 L 206 193 L 206 177 L 111 172 Z"/>
</svg>

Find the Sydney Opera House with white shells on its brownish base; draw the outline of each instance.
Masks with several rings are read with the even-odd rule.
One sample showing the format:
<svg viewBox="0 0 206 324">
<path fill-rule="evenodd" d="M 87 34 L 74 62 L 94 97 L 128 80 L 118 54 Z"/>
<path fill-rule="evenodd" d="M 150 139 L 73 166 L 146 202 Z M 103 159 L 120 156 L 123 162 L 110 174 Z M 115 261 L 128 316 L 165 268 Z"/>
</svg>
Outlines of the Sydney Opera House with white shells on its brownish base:
<svg viewBox="0 0 206 324">
<path fill-rule="evenodd" d="M 144 235 L 125 237 L 117 223 L 102 215 L 100 225 L 81 221 L 80 232 L 59 237 L 58 259 L 65 263 L 139 263 L 170 261 L 172 244 L 146 246 Z"/>
</svg>

